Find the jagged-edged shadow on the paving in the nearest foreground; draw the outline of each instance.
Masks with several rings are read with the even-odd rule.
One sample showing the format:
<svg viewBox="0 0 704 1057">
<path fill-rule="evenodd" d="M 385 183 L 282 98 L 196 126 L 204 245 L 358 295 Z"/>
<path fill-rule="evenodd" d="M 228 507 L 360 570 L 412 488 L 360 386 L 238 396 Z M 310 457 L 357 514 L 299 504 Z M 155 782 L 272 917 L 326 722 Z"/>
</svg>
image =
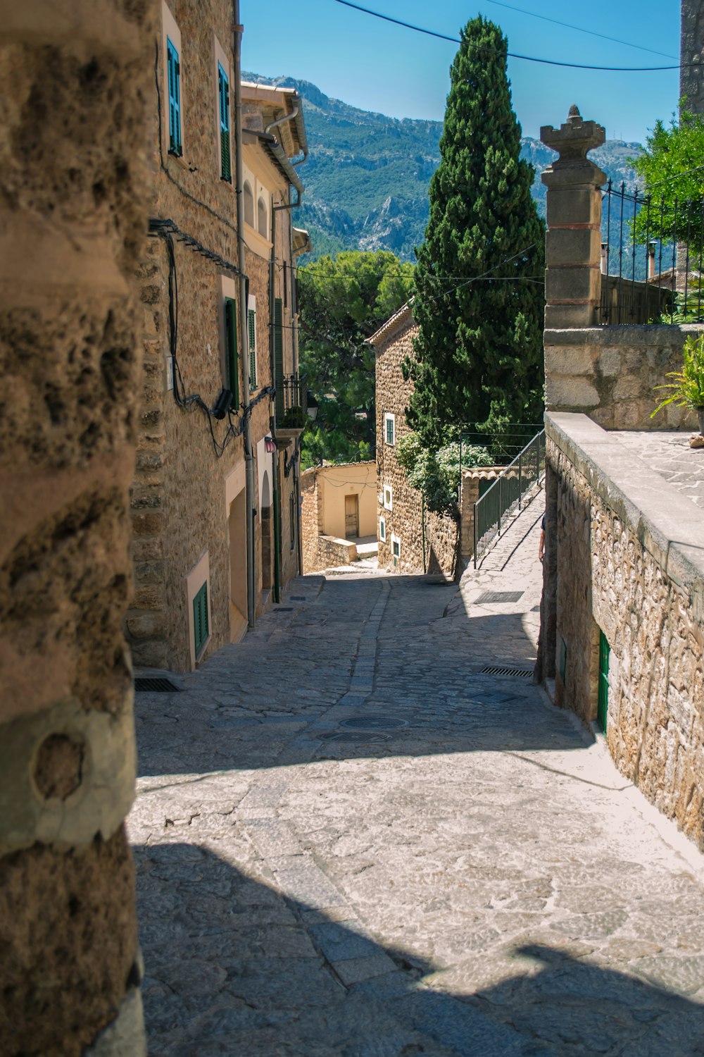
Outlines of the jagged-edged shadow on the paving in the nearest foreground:
<svg viewBox="0 0 704 1057">
<path fill-rule="evenodd" d="M 442 971 L 377 941 L 324 882 L 316 891 L 306 855 L 292 897 L 264 879 L 266 861 L 245 875 L 216 839 L 134 852 L 152 1057 L 704 1054 L 704 1007 L 657 976 L 693 993 L 693 959 L 634 959 L 628 976 L 525 933 Z"/>
</svg>

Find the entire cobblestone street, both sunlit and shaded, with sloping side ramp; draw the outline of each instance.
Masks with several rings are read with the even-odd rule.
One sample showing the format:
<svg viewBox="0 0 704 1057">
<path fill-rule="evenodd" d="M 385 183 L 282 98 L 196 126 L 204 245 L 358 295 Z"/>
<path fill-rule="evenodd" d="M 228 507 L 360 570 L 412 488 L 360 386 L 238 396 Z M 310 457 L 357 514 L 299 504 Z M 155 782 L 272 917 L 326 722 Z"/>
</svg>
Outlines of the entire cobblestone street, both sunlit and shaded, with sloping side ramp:
<svg viewBox="0 0 704 1057">
<path fill-rule="evenodd" d="M 153 1057 L 704 1055 L 698 853 L 482 671 L 532 667 L 540 502 L 459 592 L 303 577 L 138 694 Z"/>
</svg>

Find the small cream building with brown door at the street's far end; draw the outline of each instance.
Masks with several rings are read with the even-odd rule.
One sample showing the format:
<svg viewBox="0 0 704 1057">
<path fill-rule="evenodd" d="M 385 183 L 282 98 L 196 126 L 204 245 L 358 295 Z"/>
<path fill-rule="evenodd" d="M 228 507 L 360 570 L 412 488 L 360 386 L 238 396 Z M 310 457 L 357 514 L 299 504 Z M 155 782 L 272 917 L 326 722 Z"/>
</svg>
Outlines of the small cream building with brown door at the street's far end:
<svg viewBox="0 0 704 1057">
<path fill-rule="evenodd" d="M 377 536 L 377 465 L 312 466 L 301 475 L 303 572 L 345 565 Z"/>
</svg>

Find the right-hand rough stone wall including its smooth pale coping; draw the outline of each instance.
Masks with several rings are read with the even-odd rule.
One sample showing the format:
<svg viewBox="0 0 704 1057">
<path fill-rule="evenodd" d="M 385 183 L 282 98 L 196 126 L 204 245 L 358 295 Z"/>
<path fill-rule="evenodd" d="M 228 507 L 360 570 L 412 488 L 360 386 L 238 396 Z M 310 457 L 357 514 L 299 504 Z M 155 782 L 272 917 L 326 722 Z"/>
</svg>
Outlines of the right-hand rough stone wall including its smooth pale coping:
<svg viewBox="0 0 704 1057">
<path fill-rule="evenodd" d="M 595 719 L 601 629 L 611 755 L 704 847 L 701 512 L 584 415 L 546 428 L 555 702 Z"/>
</svg>

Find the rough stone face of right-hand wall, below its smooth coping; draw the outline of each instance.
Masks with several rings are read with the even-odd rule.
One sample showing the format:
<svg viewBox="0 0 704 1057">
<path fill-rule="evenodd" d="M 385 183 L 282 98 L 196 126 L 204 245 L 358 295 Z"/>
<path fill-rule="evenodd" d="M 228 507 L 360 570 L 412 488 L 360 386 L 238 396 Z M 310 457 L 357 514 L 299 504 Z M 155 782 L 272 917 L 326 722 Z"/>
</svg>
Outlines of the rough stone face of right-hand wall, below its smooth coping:
<svg viewBox="0 0 704 1057">
<path fill-rule="evenodd" d="M 611 648 L 607 741 L 616 766 L 704 847 L 701 614 L 554 442 L 548 448 L 557 482 L 556 703 L 595 719 L 601 628 Z"/>
</svg>

